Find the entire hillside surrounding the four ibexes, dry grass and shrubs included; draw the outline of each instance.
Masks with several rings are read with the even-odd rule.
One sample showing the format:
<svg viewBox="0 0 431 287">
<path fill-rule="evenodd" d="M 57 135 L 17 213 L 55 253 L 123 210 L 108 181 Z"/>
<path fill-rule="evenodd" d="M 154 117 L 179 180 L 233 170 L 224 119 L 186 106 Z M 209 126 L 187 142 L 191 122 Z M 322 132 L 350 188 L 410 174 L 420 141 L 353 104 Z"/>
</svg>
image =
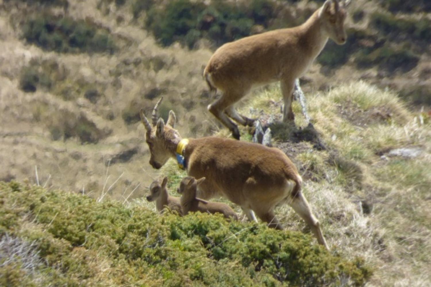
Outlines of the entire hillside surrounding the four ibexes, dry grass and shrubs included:
<svg viewBox="0 0 431 287">
<path fill-rule="evenodd" d="M 149 113 L 164 96 L 160 113 L 166 117 L 173 109 L 183 136 L 229 136 L 206 111 L 212 99 L 201 73 L 212 51 L 238 37 L 297 25 L 321 3 L 0 0 L 0 180 L 26 182 L 1 186 L 0 246 L 7 248 L 0 260 L 15 247 L 28 248 L 30 260 L 0 261 L 8 276 L 1 284 L 21 282 L 15 272 L 21 266 L 30 286 L 56 280 L 104 286 L 163 280 L 172 286 L 234 280 L 238 286 L 430 285 L 424 272 L 431 261 L 427 1 L 353 1 L 348 43 L 329 42 L 301 79 L 315 129 L 306 128 L 297 103 L 297 128 L 270 126 L 273 145 L 305 179 L 304 193 L 330 254 L 310 245 L 302 235 L 309 230 L 288 207 L 277 214 L 300 234 L 247 225 L 244 216 L 230 224 L 208 216 L 158 218 L 139 199 L 153 178 L 169 175 L 175 188 L 183 175 L 172 161 L 160 172 L 151 169 L 139 109 Z M 239 106 L 250 116 L 278 119 L 280 100 L 279 87 L 271 85 Z M 250 140 L 249 130 L 241 133 Z M 54 191 L 59 188 L 66 192 Z M 82 213 L 77 204 L 85 207 Z M 265 242 L 293 236 L 301 247 L 230 245 L 244 228 L 250 231 L 239 242 L 260 242 L 253 237 L 259 230 Z M 295 257 L 286 254 L 304 246 L 310 261 L 290 261 Z M 139 256 L 149 250 L 155 252 L 149 258 Z M 184 261 L 172 260 L 176 252 Z M 242 261 L 244 254 L 253 258 Z M 297 264 L 305 269 L 286 269 Z M 214 266 L 227 277 L 211 272 Z"/>
</svg>

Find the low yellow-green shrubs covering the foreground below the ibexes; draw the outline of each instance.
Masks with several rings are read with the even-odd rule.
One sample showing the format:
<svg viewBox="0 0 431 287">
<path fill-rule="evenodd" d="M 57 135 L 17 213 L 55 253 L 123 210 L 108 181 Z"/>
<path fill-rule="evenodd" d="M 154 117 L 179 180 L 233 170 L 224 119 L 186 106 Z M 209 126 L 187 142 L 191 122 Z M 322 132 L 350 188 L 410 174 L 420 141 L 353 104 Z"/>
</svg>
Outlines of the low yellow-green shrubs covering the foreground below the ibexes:
<svg viewBox="0 0 431 287">
<path fill-rule="evenodd" d="M 361 259 L 333 256 L 299 232 L 158 216 L 13 181 L 0 182 L 0 214 L 0 236 L 29 250 L 1 265 L 2 286 L 340 286 L 371 275 Z"/>
</svg>

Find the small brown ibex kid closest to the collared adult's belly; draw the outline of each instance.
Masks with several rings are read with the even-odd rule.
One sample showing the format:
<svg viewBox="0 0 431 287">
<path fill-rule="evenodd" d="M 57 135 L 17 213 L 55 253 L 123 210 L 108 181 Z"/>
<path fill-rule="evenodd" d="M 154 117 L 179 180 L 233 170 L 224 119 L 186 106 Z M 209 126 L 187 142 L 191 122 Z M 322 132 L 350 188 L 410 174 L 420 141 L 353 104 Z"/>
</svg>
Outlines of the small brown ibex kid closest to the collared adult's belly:
<svg viewBox="0 0 431 287">
<path fill-rule="evenodd" d="M 205 177 L 196 180 L 193 176 L 184 177 L 180 186 L 178 187 L 178 193 L 181 194 L 180 203 L 184 215 L 189 212 L 207 212 L 207 213 L 221 213 L 225 218 L 238 219 L 235 211 L 227 204 L 221 202 L 205 201 L 200 198 L 196 198 L 197 188 L 205 181 Z"/>
</svg>

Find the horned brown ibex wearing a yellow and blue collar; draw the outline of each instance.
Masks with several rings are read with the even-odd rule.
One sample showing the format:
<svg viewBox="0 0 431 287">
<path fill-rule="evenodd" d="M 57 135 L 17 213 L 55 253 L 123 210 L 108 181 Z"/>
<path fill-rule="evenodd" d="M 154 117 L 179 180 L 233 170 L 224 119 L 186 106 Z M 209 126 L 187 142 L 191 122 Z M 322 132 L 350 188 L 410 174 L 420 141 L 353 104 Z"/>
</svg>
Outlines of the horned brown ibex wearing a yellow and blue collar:
<svg viewBox="0 0 431 287">
<path fill-rule="evenodd" d="M 174 129 L 173 111 L 169 111 L 166 125 L 162 118 L 157 119 L 160 101 L 153 110 L 152 124 L 142 109 L 140 112 L 153 168 L 159 169 L 169 158 L 175 158 L 189 176 L 206 178 L 199 185 L 199 198 L 223 195 L 240 205 L 249 219 L 253 219 L 253 210 L 270 227 L 283 228 L 274 208 L 287 203 L 310 226 L 319 244 L 328 248 L 319 221 L 301 192 L 301 176 L 286 154 L 277 148 L 233 139 L 182 139 Z"/>
</svg>

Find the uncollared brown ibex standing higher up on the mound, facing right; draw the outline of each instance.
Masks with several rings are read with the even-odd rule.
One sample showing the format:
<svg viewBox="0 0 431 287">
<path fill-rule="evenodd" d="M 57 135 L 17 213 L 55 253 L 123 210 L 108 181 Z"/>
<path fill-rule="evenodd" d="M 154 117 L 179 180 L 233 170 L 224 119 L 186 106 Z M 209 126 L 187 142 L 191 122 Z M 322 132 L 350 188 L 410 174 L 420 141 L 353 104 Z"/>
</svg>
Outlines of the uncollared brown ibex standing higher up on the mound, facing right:
<svg viewBox="0 0 431 287">
<path fill-rule="evenodd" d="M 350 0 L 327 0 L 302 25 L 278 29 L 226 43 L 209 59 L 203 76 L 209 89 L 222 96 L 208 106 L 235 139 L 240 133 L 235 120 L 244 126 L 253 120 L 237 113 L 234 104 L 253 86 L 280 81 L 284 99 L 283 121 L 294 121 L 292 111 L 295 79 L 304 74 L 328 38 L 346 43 L 344 20 Z"/>
</svg>

